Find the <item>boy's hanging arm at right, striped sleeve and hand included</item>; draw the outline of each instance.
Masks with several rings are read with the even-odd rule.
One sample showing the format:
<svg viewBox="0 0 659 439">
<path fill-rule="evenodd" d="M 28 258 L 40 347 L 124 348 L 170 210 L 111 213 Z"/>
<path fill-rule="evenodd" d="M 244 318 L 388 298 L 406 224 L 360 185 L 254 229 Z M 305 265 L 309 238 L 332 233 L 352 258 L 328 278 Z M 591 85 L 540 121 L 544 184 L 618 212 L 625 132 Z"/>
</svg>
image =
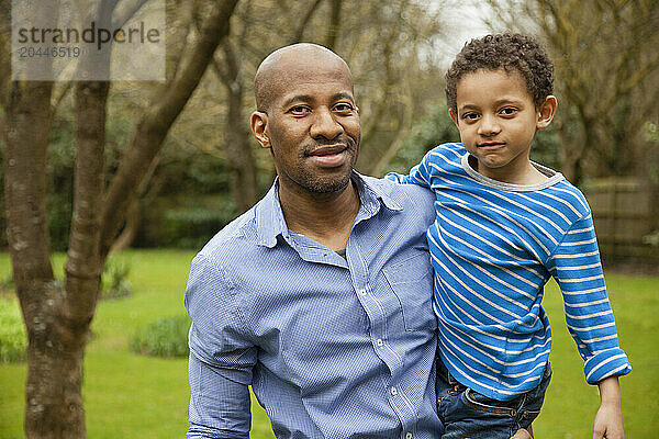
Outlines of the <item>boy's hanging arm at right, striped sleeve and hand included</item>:
<svg viewBox="0 0 659 439">
<path fill-rule="evenodd" d="M 618 346 L 590 212 L 565 235 L 548 268 L 561 289 L 566 322 L 584 360 L 585 379 L 600 386 L 593 438 L 624 438 L 617 376 L 632 367 Z"/>
</svg>

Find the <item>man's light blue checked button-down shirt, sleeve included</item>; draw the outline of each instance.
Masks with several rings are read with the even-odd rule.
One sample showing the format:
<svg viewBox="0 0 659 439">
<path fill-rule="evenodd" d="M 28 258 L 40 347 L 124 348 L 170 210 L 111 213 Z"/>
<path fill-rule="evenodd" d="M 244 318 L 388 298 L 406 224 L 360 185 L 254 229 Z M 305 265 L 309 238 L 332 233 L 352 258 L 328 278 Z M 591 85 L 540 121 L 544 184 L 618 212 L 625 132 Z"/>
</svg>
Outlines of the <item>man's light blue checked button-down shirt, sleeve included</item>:
<svg viewBox="0 0 659 439">
<path fill-rule="evenodd" d="M 192 261 L 188 438 L 438 438 L 434 195 L 354 175 L 346 259 L 289 230 L 277 183 Z"/>
</svg>

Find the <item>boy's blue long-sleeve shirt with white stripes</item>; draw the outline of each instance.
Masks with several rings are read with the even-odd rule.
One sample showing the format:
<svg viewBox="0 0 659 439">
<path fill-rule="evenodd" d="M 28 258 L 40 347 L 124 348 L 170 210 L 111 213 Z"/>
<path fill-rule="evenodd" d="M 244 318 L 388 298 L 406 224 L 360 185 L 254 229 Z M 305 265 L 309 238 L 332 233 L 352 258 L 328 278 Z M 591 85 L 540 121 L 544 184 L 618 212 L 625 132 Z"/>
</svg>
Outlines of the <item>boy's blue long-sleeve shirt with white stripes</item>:
<svg viewBox="0 0 659 439">
<path fill-rule="evenodd" d="M 541 306 L 554 277 L 585 379 L 628 373 L 619 348 L 590 207 L 560 173 L 535 185 L 481 176 L 461 144 L 431 150 L 404 183 L 431 188 L 427 238 L 435 269 L 438 350 L 463 385 L 505 401 L 536 386 L 551 347 Z"/>
</svg>

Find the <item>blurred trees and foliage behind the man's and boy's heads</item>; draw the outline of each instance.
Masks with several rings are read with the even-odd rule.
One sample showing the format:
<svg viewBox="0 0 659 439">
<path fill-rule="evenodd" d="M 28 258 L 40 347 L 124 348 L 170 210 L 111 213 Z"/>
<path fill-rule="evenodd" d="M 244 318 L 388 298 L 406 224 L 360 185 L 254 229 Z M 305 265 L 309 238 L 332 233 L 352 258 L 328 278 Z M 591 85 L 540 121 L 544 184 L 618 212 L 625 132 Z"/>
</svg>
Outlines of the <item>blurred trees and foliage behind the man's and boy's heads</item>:
<svg viewBox="0 0 659 439">
<path fill-rule="evenodd" d="M 138 232 L 131 243 L 199 248 L 213 229 L 265 193 L 273 168 L 268 151 L 258 147 L 248 131 L 253 78 L 260 60 L 286 44 L 324 44 L 350 65 L 362 117 L 359 171 L 376 176 L 389 170 L 405 172 L 433 146 L 458 140 L 444 103 L 444 72 L 462 44 L 450 31 L 461 25 L 457 11 L 465 4 L 480 9 L 498 32 L 537 35 L 555 59 L 559 111 L 550 128 L 538 134 L 534 159 L 562 171 L 577 184 L 602 176 L 658 180 L 659 111 L 654 104 L 659 93 L 655 50 L 658 2 L 489 3 L 485 9 L 482 2 L 453 0 L 239 1 L 230 37 L 215 54 L 139 191 Z M 182 29 L 188 38 L 196 38 L 196 23 L 208 8 L 212 2 L 205 0 L 186 4 L 169 0 L 170 32 Z M 168 50 L 175 53 L 176 38 L 168 41 Z M 146 110 L 155 91 L 154 83 L 112 85 L 108 176 L 124 154 L 133 121 Z M 72 121 L 71 94 L 64 88 L 47 170 L 51 244 L 56 250 L 67 248 L 70 229 Z M 255 177 L 247 181 L 250 169 Z M 201 195 L 212 195 L 214 201 L 194 202 Z M 7 235 L 4 210 L 0 211 L 1 248 L 7 246 Z"/>
</svg>

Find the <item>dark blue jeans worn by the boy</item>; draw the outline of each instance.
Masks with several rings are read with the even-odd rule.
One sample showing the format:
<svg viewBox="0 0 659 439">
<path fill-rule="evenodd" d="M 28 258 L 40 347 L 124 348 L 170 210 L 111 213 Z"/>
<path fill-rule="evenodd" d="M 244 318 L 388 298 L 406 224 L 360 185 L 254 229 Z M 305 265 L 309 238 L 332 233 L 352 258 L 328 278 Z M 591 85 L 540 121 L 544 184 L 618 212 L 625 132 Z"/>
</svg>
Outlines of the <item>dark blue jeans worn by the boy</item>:
<svg viewBox="0 0 659 439">
<path fill-rule="evenodd" d="M 458 383 L 437 357 L 437 414 L 446 428 L 442 439 L 510 439 L 539 415 L 550 380 L 547 362 L 535 389 L 511 401 L 492 399 Z"/>
</svg>

